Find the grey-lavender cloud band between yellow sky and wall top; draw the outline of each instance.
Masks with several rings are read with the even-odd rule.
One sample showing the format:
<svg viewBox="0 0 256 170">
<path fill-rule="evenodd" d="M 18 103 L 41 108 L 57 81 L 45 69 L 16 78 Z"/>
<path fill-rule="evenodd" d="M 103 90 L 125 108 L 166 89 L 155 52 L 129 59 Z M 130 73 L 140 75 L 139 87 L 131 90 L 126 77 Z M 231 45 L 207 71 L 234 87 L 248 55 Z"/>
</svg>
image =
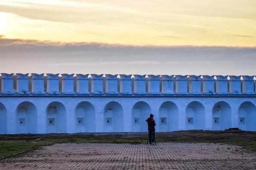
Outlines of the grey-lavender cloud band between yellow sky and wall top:
<svg viewBox="0 0 256 170">
<path fill-rule="evenodd" d="M 0 35 L 0 72 L 253 75 L 256 47 L 127 46 L 9 39 Z"/>
</svg>

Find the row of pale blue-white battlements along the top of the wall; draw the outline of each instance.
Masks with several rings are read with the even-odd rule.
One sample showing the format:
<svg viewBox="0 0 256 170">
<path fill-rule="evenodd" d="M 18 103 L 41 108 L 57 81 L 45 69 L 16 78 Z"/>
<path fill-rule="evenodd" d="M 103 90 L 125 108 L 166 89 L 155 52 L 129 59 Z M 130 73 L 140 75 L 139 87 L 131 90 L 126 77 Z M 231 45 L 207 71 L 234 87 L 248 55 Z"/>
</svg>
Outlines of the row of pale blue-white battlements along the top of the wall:
<svg viewBox="0 0 256 170">
<path fill-rule="evenodd" d="M 241 80 L 242 78 L 242 80 Z M 254 94 L 254 76 L 1 74 L 1 93 Z M 45 85 L 46 83 L 46 85 Z M 13 87 L 12 87 L 13 86 Z"/>
</svg>

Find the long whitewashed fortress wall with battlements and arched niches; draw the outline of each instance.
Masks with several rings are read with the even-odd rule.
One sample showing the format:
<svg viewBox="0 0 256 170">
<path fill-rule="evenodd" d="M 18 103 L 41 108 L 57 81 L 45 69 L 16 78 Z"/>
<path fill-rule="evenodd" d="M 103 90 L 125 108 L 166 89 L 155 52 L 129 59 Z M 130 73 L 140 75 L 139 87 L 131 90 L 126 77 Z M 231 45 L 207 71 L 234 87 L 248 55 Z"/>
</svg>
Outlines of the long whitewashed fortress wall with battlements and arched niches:
<svg viewBox="0 0 256 170">
<path fill-rule="evenodd" d="M 157 132 L 256 131 L 254 76 L 1 73 L 0 81 L 0 134 L 146 132 L 150 113 Z"/>
</svg>

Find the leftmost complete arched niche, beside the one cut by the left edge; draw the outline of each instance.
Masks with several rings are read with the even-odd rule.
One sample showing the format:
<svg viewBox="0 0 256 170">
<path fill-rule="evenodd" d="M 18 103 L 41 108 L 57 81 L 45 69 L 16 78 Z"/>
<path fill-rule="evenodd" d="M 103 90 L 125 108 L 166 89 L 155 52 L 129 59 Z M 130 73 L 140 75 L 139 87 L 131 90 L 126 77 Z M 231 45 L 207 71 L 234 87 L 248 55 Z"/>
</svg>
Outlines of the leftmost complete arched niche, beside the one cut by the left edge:
<svg viewBox="0 0 256 170">
<path fill-rule="evenodd" d="M 16 109 L 17 133 L 37 133 L 37 109 L 34 104 L 24 101 Z"/>
</svg>

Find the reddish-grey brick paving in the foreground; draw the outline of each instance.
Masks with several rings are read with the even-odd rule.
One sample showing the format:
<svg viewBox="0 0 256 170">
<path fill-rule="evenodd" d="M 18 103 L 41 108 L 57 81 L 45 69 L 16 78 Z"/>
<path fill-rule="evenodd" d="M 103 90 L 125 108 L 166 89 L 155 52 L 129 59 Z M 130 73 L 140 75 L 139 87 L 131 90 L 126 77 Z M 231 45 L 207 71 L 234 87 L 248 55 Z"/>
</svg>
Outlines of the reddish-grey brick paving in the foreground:
<svg viewBox="0 0 256 170">
<path fill-rule="evenodd" d="M 54 144 L 0 160 L 0 170 L 253 170 L 256 154 L 208 143 Z"/>
</svg>

